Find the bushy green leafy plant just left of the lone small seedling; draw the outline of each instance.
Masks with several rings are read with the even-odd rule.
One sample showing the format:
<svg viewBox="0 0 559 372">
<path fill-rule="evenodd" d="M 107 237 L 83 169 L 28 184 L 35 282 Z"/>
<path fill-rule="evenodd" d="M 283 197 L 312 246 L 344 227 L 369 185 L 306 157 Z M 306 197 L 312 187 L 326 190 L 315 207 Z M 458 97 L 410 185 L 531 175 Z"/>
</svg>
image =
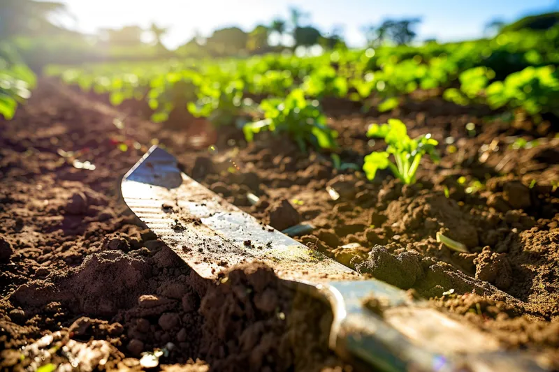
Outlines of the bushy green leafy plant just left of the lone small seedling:
<svg viewBox="0 0 559 372">
<path fill-rule="evenodd" d="M 263 100 L 259 106 L 264 119 L 245 125 L 242 130 L 247 142 L 261 131 L 288 134 L 300 149 L 307 144 L 317 149 L 335 149 L 337 132 L 326 125 L 318 101 L 305 99 L 302 89 L 294 89 L 284 100 L 271 98 Z"/>
</svg>

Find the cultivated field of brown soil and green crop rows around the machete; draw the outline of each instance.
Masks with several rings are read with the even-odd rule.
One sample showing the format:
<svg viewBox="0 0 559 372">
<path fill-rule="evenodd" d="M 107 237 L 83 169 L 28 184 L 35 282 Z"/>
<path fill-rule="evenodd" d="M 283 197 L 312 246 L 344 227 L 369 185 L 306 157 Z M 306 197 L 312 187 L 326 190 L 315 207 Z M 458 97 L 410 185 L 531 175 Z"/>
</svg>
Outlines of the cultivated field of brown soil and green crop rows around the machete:
<svg viewBox="0 0 559 372">
<path fill-rule="evenodd" d="M 36 87 L 6 64 L 2 369 L 71 363 L 69 337 L 108 370 L 154 350 L 168 371 L 351 370 L 324 304 L 259 264 L 205 281 L 131 214 L 119 182 L 152 144 L 264 223 L 310 223 L 303 244 L 559 368 L 558 47 L 556 27 L 50 66 Z"/>
</svg>

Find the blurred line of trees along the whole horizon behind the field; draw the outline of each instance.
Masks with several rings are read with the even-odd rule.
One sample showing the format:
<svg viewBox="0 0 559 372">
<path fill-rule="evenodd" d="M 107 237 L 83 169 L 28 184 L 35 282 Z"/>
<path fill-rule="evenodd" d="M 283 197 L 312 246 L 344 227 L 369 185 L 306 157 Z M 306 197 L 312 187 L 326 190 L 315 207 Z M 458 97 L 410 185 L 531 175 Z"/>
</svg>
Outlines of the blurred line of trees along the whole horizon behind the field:
<svg viewBox="0 0 559 372">
<path fill-rule="evenodd" d="M 66 19 L 71 17 L 65 4 L 59 1 L 0 0 L 0 40 L 27 37 L 33 42 L 27 43 L 32 46 L 24 52 L 29 56 L 27 59 L 38 65 L 57 63 L 59 59 L 64 59 L 66 63 L 78 63 L 82 60 L 123 57 L 149 59 L 174 55 L 203 57 L 260 54 L 312 45 L 321 45 L 325 49 L 347 47 L 343 27 L 333 26 L 321 31 L 310 22 L 310 13 L 300 8 L 289 8 L 287 17 L 275 17 L 249 31 L 225 27 L 215 29 L 210 36 L 196 33 L 173 51 L 167 50 L 162 41 L 170 30 L 158 24 L 153 23 L 147 28 L 129 25 L 119 29 L 101 29 L 95 35 L 83 35 L 55 22 L 56 17 L 53 16 L 56 15 L 65 15 Z M 486 35 L 494 35 L 504 29 L 545 29 L 558 20 L 559 13 L 525 17 L 509 25 L 496 18 L 488 22 L 485 31 Z M 416 28 L 420 23 L 419 17 L 385 19 L 377 24 L 365 24 L 360 27 L 360 31 L 366 45 L 370 47 L 407 45 L 416 40 Z M 143 41 L 146 34 L 151 36 L 152 42 Z M 95 43 L 85 43 L 86 39 L 94 40 Z M 64 53 L 61 53 L 61 48 Z"/>
</svg>

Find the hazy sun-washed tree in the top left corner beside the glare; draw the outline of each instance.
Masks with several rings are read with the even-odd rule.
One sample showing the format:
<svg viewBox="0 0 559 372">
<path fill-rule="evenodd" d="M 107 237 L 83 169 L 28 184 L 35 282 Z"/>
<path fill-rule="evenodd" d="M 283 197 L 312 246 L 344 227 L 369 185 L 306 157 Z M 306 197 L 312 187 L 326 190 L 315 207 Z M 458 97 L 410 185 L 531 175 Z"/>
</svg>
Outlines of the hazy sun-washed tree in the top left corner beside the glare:
<svg viewBox="0 0 559 372">
<path fill-rule="evenodd" d="M 66 5 L 57 1 L 1 0 L 0 38 L 65 31 L 48 20 L 50 15 L 65 12 Z"/>
</svg>

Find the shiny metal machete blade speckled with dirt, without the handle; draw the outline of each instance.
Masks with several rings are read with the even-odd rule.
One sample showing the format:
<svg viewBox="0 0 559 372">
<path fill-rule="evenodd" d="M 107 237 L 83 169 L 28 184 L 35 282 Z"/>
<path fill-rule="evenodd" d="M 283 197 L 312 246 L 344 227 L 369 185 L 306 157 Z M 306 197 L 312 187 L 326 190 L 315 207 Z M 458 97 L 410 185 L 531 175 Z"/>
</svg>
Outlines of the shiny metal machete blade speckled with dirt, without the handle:
<svg viewBox="0 0 559 372">
<path fill-rule="evenodd" d="M 205 278 L 250 261 L 265 262 L 286 280 L 362 278 L 198 184 L 160 147 L 152 147 L 124 176 L 122 196 L 140 220 Z"/>
</svg>

